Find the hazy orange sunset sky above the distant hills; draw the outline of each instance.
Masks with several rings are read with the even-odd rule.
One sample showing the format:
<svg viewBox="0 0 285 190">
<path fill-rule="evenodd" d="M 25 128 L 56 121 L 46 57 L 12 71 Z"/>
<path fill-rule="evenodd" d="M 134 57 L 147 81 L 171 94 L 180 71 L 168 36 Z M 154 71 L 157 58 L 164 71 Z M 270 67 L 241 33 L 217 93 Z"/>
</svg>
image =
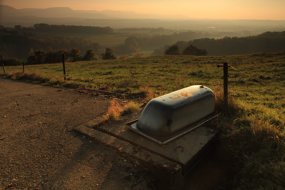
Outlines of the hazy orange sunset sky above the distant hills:
<svg viewBox="0 0 285 190">
<path fill-rule="evenodd" d="M 211 19 L 285 20 L 284 0 L 0 0 L 16 9 L 70 7 L 73 10 L 111 9 L 157 15 L 187 15 Z"/>
</svg>

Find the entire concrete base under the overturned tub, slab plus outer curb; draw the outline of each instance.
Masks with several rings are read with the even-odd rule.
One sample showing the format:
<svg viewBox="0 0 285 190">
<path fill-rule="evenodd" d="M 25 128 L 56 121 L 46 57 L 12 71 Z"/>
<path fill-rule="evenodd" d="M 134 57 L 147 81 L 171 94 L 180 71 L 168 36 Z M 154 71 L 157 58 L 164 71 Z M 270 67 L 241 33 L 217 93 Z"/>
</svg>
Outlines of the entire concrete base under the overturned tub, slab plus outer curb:
<svg viewBox="0 0 285 190">
<path fill-rule="evenodd" d="M 138 119 L 140 112 L 107 124 L 103 117 L 97 118 L 75 130 L 140 160 L 161 180 L 165 189 L 182 189 L 184 174 L 213 147 L 213 139 L 218 131 L 200 126 L 161 146 L 124 126 Z"/>
</svg>

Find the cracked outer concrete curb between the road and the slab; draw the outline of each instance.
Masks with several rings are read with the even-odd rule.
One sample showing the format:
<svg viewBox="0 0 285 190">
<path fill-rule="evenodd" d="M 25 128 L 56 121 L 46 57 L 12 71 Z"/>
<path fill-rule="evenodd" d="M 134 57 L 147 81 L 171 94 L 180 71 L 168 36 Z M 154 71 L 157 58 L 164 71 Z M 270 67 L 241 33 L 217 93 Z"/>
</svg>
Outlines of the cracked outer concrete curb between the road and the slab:
<svg viewBox="0 0 285 190">
<path fill-rule="evenodd" d="M 91 124 L 101 124 L 102 118 L 98 118 L 97 121 L 95 119 L 95 121 L 93 120 L 78 126 L 74 130 L 84 134 L 85 136 L 89 136 L 90 138 L 105 143 L 107 146 L 117 149 L 121 153 L 125 153 L 128 158 L 130 157 L 139 160 L 149 169 L 149 171 L 156 175 L 165 189 L 182 189 L 183 175 L 182 167 L 179 164 L 141 149 L 140 147 L 133 146 L 130 143 L 120 140 L 114 136 L 93 129 L 94 127 L 90 127 L 92 126 Z"/>
</svg>

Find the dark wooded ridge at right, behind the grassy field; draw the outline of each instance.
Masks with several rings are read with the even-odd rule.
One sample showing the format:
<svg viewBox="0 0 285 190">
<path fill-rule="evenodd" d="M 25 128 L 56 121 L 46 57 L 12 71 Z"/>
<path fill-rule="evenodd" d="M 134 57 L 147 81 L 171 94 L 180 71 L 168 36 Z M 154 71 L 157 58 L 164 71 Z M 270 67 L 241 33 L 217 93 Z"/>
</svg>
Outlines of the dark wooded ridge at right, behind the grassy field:
<svg viewBox="0 0 285 190">
<path fill-rule="evenodd" d="M 208 55 L 235 55 L 235 54 L 251 54 L 258 52 L 274 52 L 285 50 L 285 31 L 283 32 L 266 32 L 258 36 L 248 37 L 223 37 L 222 39 L 193 39 L 190 41 L 177 41 L 173 45 L 177 45 L 180 53 L 189 44 L 198 48 L 205 48 Z M 156 48 L 152 55 L 163 55 L 170 45 L 164 45 Z"/>
</svg>

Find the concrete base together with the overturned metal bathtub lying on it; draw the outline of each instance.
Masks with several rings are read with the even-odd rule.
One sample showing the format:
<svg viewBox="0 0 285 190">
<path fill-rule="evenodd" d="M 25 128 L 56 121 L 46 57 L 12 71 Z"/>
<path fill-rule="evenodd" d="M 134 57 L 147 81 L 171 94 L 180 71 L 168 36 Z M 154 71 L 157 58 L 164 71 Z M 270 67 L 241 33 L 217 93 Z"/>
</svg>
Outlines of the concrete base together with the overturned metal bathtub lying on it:
<svg viewBox="0 0 285 190">
<path fill-rule="evenodd" d="M 118 122 L 100 126 L 98 118 L 76 130 L 141 161 L 164 189 L 180 190 L 215 148 L 218 131 L 205 125 L 219 115 L 214 111 L 213 91 L 195 85 L 155 98 Z"/>
</svg>

